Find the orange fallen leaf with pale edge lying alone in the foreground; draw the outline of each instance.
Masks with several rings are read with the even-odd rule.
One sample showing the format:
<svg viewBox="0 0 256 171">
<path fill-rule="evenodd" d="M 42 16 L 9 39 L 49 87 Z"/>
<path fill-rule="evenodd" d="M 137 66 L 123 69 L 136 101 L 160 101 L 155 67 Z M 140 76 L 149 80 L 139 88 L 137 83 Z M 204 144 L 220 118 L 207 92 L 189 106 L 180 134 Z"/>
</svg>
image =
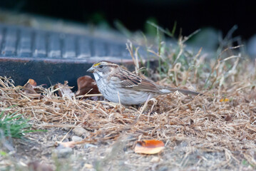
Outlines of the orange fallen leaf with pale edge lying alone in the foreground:
<svg viewBox="0 0 256 171">
<path fill-rule="evenodd" d="M 165 144 L 160 140 L 142 140 L 135 145 L 134 151 L 136 153 L 143 153 L 153 155 L 163 150 Z"/>
</svg>

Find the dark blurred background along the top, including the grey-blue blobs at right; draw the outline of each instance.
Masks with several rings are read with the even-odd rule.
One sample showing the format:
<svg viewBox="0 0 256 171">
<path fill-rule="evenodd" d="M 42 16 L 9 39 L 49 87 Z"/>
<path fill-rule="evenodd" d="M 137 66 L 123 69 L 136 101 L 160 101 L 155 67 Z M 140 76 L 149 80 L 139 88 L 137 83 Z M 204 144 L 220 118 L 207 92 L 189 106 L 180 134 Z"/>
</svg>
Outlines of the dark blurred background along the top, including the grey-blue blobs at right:
<svg viewBox="0 0 256 171">
<path fill-rule="evenodd" d="M 72 21 L 86 24 L 89 29 L 117 29 L 128 38 L 135 31 L 155 36 L 156 29 L 148 21 L 170 30 L 176 24 L 175 38 L 189 36 L 200 28 L 200 32 L 187 43 L 213 51 L 222 37 L 237 26 L 232 36 L 239 36 L 240 43 L 248 44 L 250 55 L 256 56 L 256 24 L 252 21 L 256 11 L 250 4 L 251 1 L 233 0 L 1 0 L 0 11 Z M 0 15 L 0 22 L 4 20 Z M 232 46 L 238 44 L 235 41 Z"/>
</svg>

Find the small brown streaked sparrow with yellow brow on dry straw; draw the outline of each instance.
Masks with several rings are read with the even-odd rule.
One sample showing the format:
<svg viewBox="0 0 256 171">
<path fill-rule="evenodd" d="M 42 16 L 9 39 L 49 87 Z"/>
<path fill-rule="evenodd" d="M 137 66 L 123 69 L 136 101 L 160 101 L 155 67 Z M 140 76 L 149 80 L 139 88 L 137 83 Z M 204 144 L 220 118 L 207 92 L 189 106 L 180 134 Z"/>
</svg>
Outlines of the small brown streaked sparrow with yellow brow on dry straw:
<svg viewBox="0 0 256 171">
<path fill-rule="evenodd" d="M 150 98 L 175 91 L 183 94 L 202 95 L 191 90 L 160 86 L 110 61 L 98 61 L 87 71 L 93 73 L 98 90 L 104 98 L 114 103 L 120 102 L 122 105 L 140 105 Z"/>
</svg>

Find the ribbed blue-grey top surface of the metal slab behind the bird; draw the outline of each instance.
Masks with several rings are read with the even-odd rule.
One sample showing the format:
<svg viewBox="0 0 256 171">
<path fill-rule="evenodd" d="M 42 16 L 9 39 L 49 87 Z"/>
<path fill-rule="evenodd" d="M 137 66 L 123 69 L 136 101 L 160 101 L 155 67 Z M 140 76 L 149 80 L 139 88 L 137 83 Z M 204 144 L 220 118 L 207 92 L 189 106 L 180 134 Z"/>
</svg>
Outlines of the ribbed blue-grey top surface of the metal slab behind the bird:
<svg viewBox="0 0 256 171">
<path fill-rule="evenodd" d="M 71 33 L 40 31 L 0 24 L 1 55 L 8 57 L 88 59 L 118 57 L 130 59 L 125 43 Z"/>
</svg>

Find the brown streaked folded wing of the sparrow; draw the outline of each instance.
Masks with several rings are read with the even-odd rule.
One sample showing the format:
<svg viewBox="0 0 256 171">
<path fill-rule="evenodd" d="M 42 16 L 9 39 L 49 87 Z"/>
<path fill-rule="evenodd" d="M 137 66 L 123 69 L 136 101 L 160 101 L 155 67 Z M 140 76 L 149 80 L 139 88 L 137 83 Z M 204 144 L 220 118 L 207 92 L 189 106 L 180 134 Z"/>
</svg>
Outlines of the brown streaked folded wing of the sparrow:
<svg viewBox="0 0 256 171">
<path fill-rule="evenodd" d="M 158 92 L 158 87 L 153 83 L 153 81 L 149 81 L 140 76 L 131 73 L 130 71 L 121 70 L 120 73 L 116 75 L 121 79 L 121 86 L 123 88 L 132 88 L 133 90 L 144 90 L 151 92 Z"/>
</svg>

